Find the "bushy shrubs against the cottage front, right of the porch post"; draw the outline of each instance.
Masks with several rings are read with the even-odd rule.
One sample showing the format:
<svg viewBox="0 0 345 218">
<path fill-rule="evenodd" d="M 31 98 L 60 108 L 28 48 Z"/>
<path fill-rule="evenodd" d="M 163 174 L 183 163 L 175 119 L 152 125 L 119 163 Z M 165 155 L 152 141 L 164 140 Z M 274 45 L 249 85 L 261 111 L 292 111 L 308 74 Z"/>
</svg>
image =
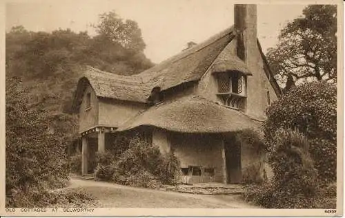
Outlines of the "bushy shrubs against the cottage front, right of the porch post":
<svg viewBox="0 0 345 218">
<path fill-rule="evenodd" d="M 121 153 L 100 154 L 95 175 L 119 184 L 155 188 L 162 183 L 175 184 L 178 172 L 175 155 L 161 155 L 157 146 L 135 135 Z"/>
</svg>

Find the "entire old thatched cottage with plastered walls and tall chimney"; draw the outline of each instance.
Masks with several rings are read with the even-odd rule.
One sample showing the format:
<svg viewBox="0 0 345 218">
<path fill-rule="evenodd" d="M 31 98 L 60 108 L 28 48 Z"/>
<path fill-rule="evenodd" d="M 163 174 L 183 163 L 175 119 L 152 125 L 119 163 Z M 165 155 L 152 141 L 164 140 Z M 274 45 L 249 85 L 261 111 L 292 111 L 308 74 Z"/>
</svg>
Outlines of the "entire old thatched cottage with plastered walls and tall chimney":
<svg viewBox="0 0 345 218">
<path fill-rule="evenodd" d="M 281 90 L 257 40 L 255 5 L 235 6 L 235 25 L 134 76 L 88 67 L 77 85 L 82 173 L 118 135 L 140 132 L 173 151 L 183 182 L 241 182 L 255 161 L 234 134 L 257 128 Z"/>
</svg>

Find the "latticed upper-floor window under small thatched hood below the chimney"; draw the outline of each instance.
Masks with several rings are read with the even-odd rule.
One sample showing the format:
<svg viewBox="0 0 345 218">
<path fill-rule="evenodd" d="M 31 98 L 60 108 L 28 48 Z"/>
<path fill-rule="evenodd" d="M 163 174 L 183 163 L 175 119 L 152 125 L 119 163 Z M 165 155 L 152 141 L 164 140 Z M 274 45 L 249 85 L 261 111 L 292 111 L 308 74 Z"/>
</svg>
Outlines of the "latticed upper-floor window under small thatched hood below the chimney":
<svg viewBox="0 0 345 218">
<path fill-rule="evenodd" d="M 246 75 L 238 71 L 215 74 L 218 83 L 217 96 L 223 105 L 243 110 L 246 99 Z"/>
</svg>

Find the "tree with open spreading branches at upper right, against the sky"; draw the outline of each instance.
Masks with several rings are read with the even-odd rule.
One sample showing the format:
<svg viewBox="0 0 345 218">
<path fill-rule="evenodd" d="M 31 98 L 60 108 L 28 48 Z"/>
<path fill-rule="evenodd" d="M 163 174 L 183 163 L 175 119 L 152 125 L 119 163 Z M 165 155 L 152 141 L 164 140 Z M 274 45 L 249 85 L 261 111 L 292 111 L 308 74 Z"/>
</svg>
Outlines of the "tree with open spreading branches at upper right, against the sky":
<svg viewBox="0 0 345 218">
<path fill-rule="evenodd" d="M 307 6 L 303 15 L 288 23 L 277 46 L 268 50 L 273 72 L 281 83 L 288 76 L 296 82 L 336 80 L 337 6 Z"/>
</svg>

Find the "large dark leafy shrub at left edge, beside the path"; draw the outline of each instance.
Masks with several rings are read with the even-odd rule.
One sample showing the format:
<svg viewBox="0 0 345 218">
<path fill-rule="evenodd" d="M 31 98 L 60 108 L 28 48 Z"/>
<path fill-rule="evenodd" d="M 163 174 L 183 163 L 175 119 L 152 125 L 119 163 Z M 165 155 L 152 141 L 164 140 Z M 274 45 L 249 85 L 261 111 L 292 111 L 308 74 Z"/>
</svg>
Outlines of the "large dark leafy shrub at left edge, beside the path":
<svg viewBox="0 0 345 218">
<path fill-rule="evenodd" d="M 68 180 L 59 120 L 30 101 L 19 78 L 6 78 L 6 195 Z M 44 100 L 44 99 L 43 99 Z M 55 130 L 55 135 L 52 134 Z"/>
</svg>

